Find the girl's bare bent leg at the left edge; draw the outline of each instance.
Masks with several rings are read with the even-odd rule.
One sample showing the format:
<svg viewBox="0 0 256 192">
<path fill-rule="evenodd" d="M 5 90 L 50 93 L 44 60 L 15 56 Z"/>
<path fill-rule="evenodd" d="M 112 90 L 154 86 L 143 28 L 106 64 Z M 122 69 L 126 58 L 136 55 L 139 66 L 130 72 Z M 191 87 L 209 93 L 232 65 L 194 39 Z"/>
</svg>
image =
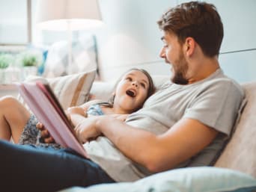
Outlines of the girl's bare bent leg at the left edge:
<svg viewBox="0 0 256 192">
<path fill-rule="evenodd" d="M 29 111 L 14 97 L 4 96 L 0 99 L 0 139 L 18 143 L 23 128 L 28 123 Z"/>
</svg>

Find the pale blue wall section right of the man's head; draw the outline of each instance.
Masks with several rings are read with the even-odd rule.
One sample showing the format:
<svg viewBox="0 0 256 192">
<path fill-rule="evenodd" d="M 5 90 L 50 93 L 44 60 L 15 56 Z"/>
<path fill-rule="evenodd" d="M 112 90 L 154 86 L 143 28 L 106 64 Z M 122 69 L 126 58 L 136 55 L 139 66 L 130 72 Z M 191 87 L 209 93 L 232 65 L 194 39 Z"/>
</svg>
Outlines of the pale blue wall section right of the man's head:
<svg viewBox="0 0 256 192">
<path fill-rule="evenodd" d="M 224 72 L 240 83 L 256 80 L 256 1 L 212 0 L 224 25 L 219 61 Z M 249 49 L 254 49 L 249 51 Z"/>
</svg>

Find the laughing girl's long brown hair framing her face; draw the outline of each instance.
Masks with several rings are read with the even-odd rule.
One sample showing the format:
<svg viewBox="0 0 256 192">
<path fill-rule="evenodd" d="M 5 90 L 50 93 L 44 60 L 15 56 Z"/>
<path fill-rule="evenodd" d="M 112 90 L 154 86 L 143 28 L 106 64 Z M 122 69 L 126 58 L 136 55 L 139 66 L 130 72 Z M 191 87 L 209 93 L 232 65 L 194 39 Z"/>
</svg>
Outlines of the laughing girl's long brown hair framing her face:
<svg viewBox="0 0 256 192">
<path fill-rule="evenodd" d="M 154 84 L 153 84 L 153 79 L 152 79 L 152 77 L 150 76 L 150 74 L 149 74 L 146 70 L 144 70 L 144 69 L 132 68 L 132 69 L 129 69 L 127 72 L 134 71 L 134 70 L 135 70 L 135 71 L 143 72 L 144 75 L 147 76 L 147 79 L 148 79 L 148 82 L 149 82 L 149 84 L 148 84 L 148 90 L 147 90 L 147 97 L 146 97 L 146 99 L 147 99 L 148 97 L 150 97 L 151 95 L 153 95 L 153 93 L 154 93 L 155 90 L 156 90 L 156 87 L 155 87 Z M 120 78 L 118 78 L 118 81 L 116 82 L 114 89 L 118 86 L 118 83 L 121 81 L 121 79 L 123 78 L 123 76 L 124 76 L 125 74 L 127 74 L 127 72 L 124 72 L 124 74 L 121 75 Z M 145 99 L 145 100 L 146 100 L 146 99 Z M 102 102 L 102 103 L 99 103 L 99 105 L 103 105 L 103 106 L 112 108 L 113 105 L 114 105 L 114 101 L 115 101 L 115 95 L 112 95 L 112 96 L 109 98 L 109 101 L 108 101 L 108 102 Z M 142 106 L 142 105 L 143 105 L 143 103 L 141 104 L 141 106 Z"/>
</svg>

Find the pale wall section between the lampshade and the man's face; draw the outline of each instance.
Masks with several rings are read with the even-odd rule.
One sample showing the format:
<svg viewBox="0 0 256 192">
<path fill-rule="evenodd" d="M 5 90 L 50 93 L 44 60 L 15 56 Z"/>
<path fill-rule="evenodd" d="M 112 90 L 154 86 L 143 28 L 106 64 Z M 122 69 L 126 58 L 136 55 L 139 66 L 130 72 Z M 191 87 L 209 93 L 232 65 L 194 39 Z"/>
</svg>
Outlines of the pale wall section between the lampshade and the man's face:
<svg viewBox="0 0 256 192">
<path fill-rule="evenodd" d="M 97 31 L 97 43 L 104 80 L 118 78 L 133 66 L 151 74 L 170 73 L 170 67 L 159 59 L 162 42 L 156 21 L 175 4 L 176 1 L 100 0 L 106 25 Z"/>
</svg>

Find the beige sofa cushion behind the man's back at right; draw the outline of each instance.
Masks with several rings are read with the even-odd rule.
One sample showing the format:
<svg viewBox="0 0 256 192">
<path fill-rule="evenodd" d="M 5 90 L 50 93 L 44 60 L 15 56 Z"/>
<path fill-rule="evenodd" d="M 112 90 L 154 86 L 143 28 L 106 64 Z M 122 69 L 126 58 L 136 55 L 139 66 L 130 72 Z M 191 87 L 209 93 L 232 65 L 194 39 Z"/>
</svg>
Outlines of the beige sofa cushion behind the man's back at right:
<svg viewBox="0 0 256 192">
<path fill-rule="evenodd" d="M 243 84 L 243 88 L 246 91 L 246 107 L 233 137 L 215 166 L 240 170 L 256 177 L 256 82 Z"/>
</svg>

